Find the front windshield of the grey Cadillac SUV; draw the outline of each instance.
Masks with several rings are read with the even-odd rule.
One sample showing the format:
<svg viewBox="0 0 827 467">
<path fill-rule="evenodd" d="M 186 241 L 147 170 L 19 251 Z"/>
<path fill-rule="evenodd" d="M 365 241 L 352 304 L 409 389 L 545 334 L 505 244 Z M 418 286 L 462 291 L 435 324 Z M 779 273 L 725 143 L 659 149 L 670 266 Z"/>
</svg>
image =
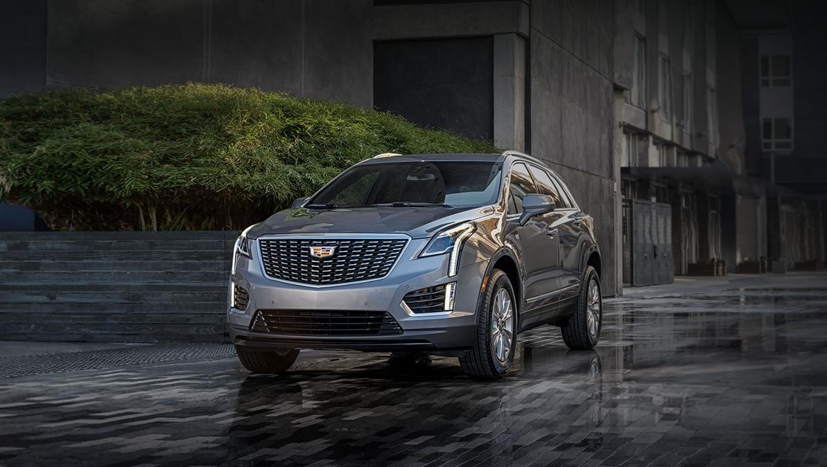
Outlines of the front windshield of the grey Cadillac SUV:
<svg viewBox="0 0 827 467">
<path fill-rule="evenodd" d="M 358 165 L 323 188 L 308 207 L 376 204 L 479 207 L 496 203 L 500 164 L 494 162 L 388 162 Z"/>
</svg>

